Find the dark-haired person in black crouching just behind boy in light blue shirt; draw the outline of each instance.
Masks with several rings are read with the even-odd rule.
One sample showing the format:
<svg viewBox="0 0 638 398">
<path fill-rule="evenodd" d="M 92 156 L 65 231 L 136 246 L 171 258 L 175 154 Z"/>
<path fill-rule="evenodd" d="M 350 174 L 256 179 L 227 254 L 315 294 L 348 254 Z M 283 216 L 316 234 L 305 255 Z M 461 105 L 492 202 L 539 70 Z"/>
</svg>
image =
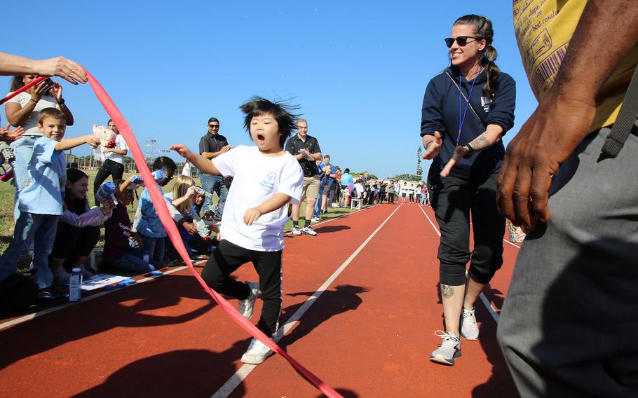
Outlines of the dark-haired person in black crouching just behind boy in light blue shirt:
<svg viewBox="0 0 638 398">
<path fill-rule="evenodd" d="M 64 265 L 80 268 L 85 278 L 93 276 L 95 271 L 85 268 L 84 262 L 100 240 L 100 226 L 111 217 L 115 207 L 113 202 L 103 207 L 89 207 L 86 199 L 88 175 L 81 170 L 67 169 L 65 186 L 65 210 L 57 224 L 53 253 L 49 258 L 53 276 L 62 284 L 69 282 Z"/>
</svg>

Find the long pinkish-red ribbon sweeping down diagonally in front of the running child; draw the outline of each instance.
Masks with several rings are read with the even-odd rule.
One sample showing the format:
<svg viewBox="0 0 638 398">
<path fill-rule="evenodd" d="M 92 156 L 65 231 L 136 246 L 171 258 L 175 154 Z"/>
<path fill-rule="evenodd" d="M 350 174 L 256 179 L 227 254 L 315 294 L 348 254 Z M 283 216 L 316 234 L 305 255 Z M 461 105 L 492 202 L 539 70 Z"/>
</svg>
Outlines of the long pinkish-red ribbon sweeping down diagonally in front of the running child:
<svg viewBox="0 0 638 398">
<path fill-rule="evenodd" d="M 135 135 L 133 135 L 133 130 L 130 129 L 128 122 L 126 121 L 124 116 L 121 114 L 119 109 L 117 109 L 111 97 L 109 97 L 107 92 L 104 91 L 104 88 L 102 88 L 102 85 L 100 85 L 100 83 L 97 83 L 97 80 L 95 80 L 95 78 L 90 73 L 88 73 L 88 71 L 86 72 L 86 75 L 88 76 L 88 83 L 90 84 L 91 88 L 93 88 L 93 91 L 95 92 L 95 95 L 97 96 L 97 99 L 99 99 L 100 102 L 102 102 L 102 106 L 107 111 L 107 114 L 111 116 L 111 119 L 114 121 L 120 134 L 122 135 L 126 144 L 128 145 L 128 148 L 130 149 L 131 154 L 133 155 L 133 159 L 135 160 L 135 164 L 137 165 L 140 172 L 142 173 L 143 181 L 155 181 L 155 179 L 151 175 L 151 170 L 149 170 L 146 160 L 144 159 L 144 155 L 142 154 L 142 149 L 140 149 L 140 144 L 137 144 L 137 139 L 135 139 Z M 15 94 L 17 94 L 17 92 Z M 252 324 L 245 317 L 243 317 L 243 315 L 241 315 L 238 312 L 238 310 L 236 310 L 235 307 L 231 306 L 231 304 L 228 301 L 226 301 L 224 297 L 220 296 L 219 294 L 217 294 L 217 292 L 213 291 L 212 289 L 210 289 L 210 287 L 208 287 L 206 282 L 204 282 L 202 277 L 196 272 L 195 268 L 193 267 L 193 264 L 191 263 L 191 259 L 189 258 L 189 255 L 186 252 L 186 247 L 184 247 L 184 242 L 182 242 L 182 237 L 179 235 L 179 232 L 177 231 L 177 226 L 175 226 L 175 222 L 173 222 L 172 217 L 170 217 L 170 214 L 168 212 L 168 207 L 166 207 L 166 203 L 163 198 L 163 194 L 157 188 L 156 184 L 146 184 L 146 187 L 149 190 L 149 193 L 151 195 L 151 199 L 153 200 L 153 205 L 155 206 L 155 210 L 157 211 L 158 217 L 162 221 L 164 228 L 166 228 L 166 233 L 168 233 L 168 238 L 170 238 L 170 241 L 172 242 L 173 246 L 175 246 L 175 249 L 177 249 L 177 252 L 179 253 L 179 255 L 182 256 L 184 263 L 186 263 L 186 266 L 189 267 L 189 269 L 191 270 L 191 273 L 193 273 L 196 280 L 202 285 L 204 290 L 207 291 L 208 294 L 210 294 L 212 299 L 215 300 L 217 304 L 219 304 L 219 306 L 221 306 L 224 309 L 224 311 L 226 311 L 226 314 L 228 314 L 235 322 L 237 322 L 240 327 L 243 327 L 243 329 L 245 329 L 245 331 L 247 331 L 249 334 L 257 338 L 259 341 L 261 341 L 265 345 L 267 345 L 268 348 L 270 348 L 274 352 L 277 352 L 279 355 L 284 357 L 288 362 L 290 362 L 292 367 L 302 377 L 306 378 L 308 382 L 310 382 L 312 385 L 317 387 L 318 390 L 320 390 L 320 392 L 323 392 L 323 394 L 325 394 L 329 398 L 333 398 L 333 397 L 343 398 L 341 394 L 334 391 L 329 385 L 324 383 L 323 380 L 315 376 L 311 371 L 309 371 L 303 365 L 297 362 L 296 359 L 294 359 L 293 357 L 288 355 L 287 352 L 282 350 L 279 347 L 279 345 L 277 345 L 274 341 L 268 338 L 261 330 L 257 329 L 257 327 L 255 327 L 254 324 Z"/>
</svg>

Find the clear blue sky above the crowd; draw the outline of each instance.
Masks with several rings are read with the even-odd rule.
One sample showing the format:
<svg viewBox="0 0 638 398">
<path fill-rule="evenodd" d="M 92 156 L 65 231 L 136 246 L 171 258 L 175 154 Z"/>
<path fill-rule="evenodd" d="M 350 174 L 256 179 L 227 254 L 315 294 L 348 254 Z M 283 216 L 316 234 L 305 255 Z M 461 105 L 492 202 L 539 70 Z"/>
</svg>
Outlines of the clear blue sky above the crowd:
<svg viewBox="0 0 638 398">
<path fill-rule="evenodd" d="M 448 64 L 443 39 L 456 18 L 478 13 L 494 22 L 496 62 L 517 81 L 516 122 L 505 143 L 536 107 L 509 1 L 264 4 L 32 1 L 26 9 L 13 1 L 3 5 L 4 15 L 31 16 L 24 27 L 18 22 L 6 30 L 3 51 L 36 59 L 64 55 L 83 64 L 143 150 L 151 137 L 156 154 L 176 142 L 196 149 L 210 116 L 219 118 L 220 134 L 231 144 L 251 144 L 239 105 L 252 95 L 290 98 L 335 165 L 390 177 L 416 171 L 423 91 Z M 0 76 L 0 87 L 8 91 L 9 80 Z M 76 120 L 67 137 L 106 124 L 88 85 L 64 88 Z M 6 121 L 4 111 L 1 116 Z"/>
</svg>

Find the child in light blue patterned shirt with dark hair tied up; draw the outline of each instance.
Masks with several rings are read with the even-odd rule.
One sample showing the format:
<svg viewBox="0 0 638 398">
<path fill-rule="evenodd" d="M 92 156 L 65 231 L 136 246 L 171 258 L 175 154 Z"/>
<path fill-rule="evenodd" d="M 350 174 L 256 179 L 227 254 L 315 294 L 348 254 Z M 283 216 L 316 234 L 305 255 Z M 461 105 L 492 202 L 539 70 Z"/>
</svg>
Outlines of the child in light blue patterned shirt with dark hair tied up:
<svg viewBox="0 0 638 398">
<path fill-rule="evenodd" d="M 162 187 L 170 182 L 177 166 L 175 162 L 167 156 L 160 156 L 155 159 L 153 163 L 153 171 L 165 172 L 165 178 L 158 179 L 157 181 L 144 181 L 145 184 L 157 184 L 158 189 L 162 192 Z M 167 204 L 170 200 L 164 198 Z M 133 222 L 133 231 L 137 232 L 142 238 L 142 246 L 144 250 L 149 252 L 151 259 L 154 259 L 155 263 L 161 265 L 164 259 L 164 238 L 168 236 L 166 230 L 160 221 L 153 200 L 149 193 L 148 188 L 144 188 L 142 195 L 140 195 L 140 204 L 137 205 L 137 214 L 135 214 L 135 221 Z"/>
</svg>

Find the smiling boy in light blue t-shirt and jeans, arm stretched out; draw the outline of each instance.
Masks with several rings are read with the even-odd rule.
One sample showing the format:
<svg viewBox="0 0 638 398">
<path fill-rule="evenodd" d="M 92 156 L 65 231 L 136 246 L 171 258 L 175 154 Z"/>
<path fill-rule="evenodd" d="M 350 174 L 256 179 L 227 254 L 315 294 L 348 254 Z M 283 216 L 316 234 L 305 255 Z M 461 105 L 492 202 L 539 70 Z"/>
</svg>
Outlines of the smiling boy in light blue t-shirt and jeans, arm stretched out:
<svg viewBox="0 0 638 398">
<path fill-rule="evenodd" d="M 48 255 L 53 249 L 57 219 L 62 215 L 67 175 L 64 151 L 81 144 L 96 148 L 100 140 L 94 135 L 85 135 L 62 141 L 67 121 L 65 114 L 55 108 L 40 111 L 38 128 L 43 137 L 33 146 L 27 183 L 18 196 L 20 217 L 15 222 L 11 244 L 0 257 L 0 280 L 18 271 L 18 261 L 27 256 L 33 245 L 33 265 L 37 270 L 34 279 L 43 289 L 53 283 Z"/>
</svg>

